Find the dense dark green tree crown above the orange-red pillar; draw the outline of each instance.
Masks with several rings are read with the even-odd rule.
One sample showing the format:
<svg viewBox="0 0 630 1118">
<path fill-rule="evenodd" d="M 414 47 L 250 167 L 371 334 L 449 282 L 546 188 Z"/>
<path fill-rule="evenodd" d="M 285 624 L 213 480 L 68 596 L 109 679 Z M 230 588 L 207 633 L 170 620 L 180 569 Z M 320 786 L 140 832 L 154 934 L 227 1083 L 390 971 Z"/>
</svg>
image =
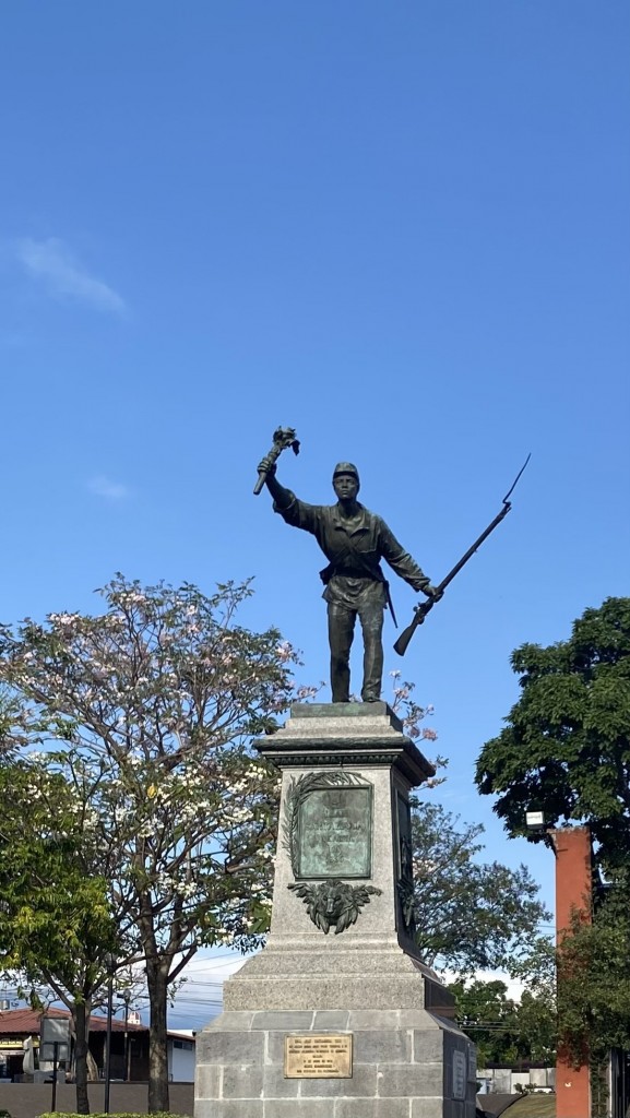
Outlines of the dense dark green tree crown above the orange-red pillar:
<svg viewBox="0 0 630 1118">
<path fill-rule="evenodd" d="M 481 750 L 479 790 L 498 796 L 511 835 L 527 834 L 530 809 L 552 827 L 587 823 L 598 864 L 630 869 L 630 598 L 586 609 L 567 641 L 525 644 L 511 664 L 521 695 Z"/>
</svg>

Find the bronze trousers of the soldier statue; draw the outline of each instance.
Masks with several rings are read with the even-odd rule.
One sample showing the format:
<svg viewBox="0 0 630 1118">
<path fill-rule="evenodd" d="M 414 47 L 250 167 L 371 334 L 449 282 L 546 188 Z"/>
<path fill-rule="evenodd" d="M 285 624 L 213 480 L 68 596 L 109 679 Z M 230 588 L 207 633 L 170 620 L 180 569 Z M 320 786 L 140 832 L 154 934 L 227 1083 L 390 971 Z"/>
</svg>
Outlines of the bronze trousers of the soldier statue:
<svg viewBox="0 0 630 1118">
<path fill-rule="evenodd" d="M 383 682 L 383 605 L 366 601 L 349 609 L 338 601 L 328 603 L 328 639 L 330 643 L 330 686 L 332 702 L 350 699 L 350 648 L 357 614 L 364 637 L 364 702 L 380 699 Z"/>
</svg>

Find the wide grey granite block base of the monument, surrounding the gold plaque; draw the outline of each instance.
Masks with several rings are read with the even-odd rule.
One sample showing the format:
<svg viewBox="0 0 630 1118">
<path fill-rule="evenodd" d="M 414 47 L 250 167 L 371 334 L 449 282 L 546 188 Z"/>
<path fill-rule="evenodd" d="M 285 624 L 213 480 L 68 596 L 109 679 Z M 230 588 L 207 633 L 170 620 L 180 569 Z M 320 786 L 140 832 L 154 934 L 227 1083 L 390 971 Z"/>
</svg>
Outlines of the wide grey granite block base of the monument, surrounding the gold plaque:
<svg viewBox="0 0 630 1118">
<path fill-rule="evenodd" d="M 351 1034 L 351 1079 L 284 1077 L 285 1036 L 309 1033 Z M 469 1045 L 457 1029 L 422 1010 L 224 1013 L 197 1035 L 195 1114 L 469 1118 L 476 1092 L 474 1079 L 468 1080 Z"/>
</svg>

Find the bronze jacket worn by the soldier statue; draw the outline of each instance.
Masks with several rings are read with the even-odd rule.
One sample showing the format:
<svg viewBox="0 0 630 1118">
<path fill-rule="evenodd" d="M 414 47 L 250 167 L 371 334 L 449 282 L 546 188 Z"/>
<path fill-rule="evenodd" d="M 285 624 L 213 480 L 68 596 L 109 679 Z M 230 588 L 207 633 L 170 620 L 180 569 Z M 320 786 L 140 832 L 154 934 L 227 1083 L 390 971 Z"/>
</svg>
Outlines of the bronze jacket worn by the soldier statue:
<svg viewBox="0 0 630 1118">
<path fill-rule="evenodd" d="M 307 504 L 305 501 L 299 501 L 290 490 L 285 492 L 290 503 L 285 508 L 279 508 L 274 503 L 274 511 L 288 524 L 311 532 L 317 539 L 330 565 L 321 571 L 326 584 L 332 580 L 323 595 L 328 600 L 332 598 L 329 593 L 331 589 L 336 600 L 345 597 L 355 599 L 357 591 L 365 588 L 366 581 L 385 582 L 380 559 L 385 559 L 396 575 L 404 578 L 414 590 L 422 590 L 429 585 L 426 575 L 398 543 L 385 521 L 363 504 L 359 504 L 357 517 L 347 520 L 340 515 L 337 504 Z"/>
</svg>

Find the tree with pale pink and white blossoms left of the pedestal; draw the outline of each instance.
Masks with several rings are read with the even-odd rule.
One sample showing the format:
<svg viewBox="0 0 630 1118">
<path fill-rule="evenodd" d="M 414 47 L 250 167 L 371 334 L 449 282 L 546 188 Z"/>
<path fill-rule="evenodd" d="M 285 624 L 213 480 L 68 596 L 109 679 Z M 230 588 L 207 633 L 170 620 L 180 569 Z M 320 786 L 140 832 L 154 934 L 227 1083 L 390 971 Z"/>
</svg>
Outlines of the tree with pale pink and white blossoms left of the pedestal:
<svg viewBox="0 0 630 1118">
<path fill-rule="evenodd" d="M 101 594 L 103 614 L 4 629 L 0 682 L 100 852 L 120 963 L 145 967 L 149 1109 L 162 1111 L 169 988 L 200 944 L 251 947 L 266 930 L 278 777 L 250 743 L 294 698 L 295 656 L 276 629 L 236 624 L 247 584 L 207 597 L 116 576 Z"/>
</svg>

